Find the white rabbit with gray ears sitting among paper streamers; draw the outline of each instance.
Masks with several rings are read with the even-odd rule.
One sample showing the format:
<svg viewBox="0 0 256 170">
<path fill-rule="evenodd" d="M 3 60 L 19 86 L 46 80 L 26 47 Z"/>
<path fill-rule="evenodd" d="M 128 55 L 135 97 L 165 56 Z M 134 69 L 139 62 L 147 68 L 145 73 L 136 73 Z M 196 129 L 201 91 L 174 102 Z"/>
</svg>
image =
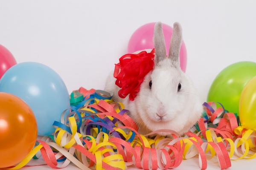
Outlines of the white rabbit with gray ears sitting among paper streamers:
<svg viewBox="0 0 256 170">
<path fill-rule="evenodd" d="M 140 134 L 154 130 L 169 129 L 178 133 L 187 132 L 200 118 L 203 111 L 202 103 L 191 79 L 180 69 L 180 46 L 182 29 L 179 23 L 174 23 L 169 57 L 166 57 L 165 41 L 162 23 L 154 28 L 154 68 L 141 84 L 140 92 L 134 99 L 129 96 L 122 99 L 118 96 L 120 88 L 115 85 L 113 71 L 109 74 L 105 91 L 113 92 L 113 100 L 122 102 L 130 111 L 132 119 L 139 126 Z M 143 50 L 150 52 L 151 50 Z M 135 52 L 138 54 L 141 51 Z M 152 81 L 151 88 L 149 82 Z M 180 91 L 177 91 L 179 83 Z M 169 133 L 158 133 L 169 136 Z"/>
</svg>

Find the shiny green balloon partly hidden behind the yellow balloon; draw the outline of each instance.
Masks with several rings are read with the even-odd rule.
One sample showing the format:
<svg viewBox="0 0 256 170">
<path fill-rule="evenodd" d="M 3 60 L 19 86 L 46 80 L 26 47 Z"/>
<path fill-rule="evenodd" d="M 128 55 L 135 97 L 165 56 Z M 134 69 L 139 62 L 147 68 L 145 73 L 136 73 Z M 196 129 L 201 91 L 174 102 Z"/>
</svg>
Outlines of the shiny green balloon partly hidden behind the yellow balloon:
<svg viewBox="0 0 256 170">
<path fill-rule="evenodd" d="M 254 76 L 256 76 L 255 62 L 236 62 L 224 68 L 212 82 L 207 102 L 220 102 L 225 110 L 239 115 L 241 92 Z"/>
</svg>

